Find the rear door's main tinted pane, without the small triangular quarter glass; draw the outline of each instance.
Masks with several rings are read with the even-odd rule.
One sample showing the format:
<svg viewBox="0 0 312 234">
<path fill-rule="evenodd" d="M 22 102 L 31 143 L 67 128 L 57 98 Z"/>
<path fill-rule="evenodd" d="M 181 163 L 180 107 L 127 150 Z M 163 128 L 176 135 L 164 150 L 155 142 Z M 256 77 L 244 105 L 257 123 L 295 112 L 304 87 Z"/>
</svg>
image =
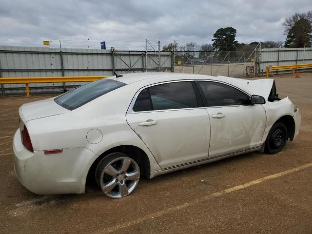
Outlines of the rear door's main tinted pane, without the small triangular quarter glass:
<svg viewBox="0 0 312 234">
<path fill-rule="evenodd" d="M 149 87 L 154 110 L 198 107 L 191 82 L 174 82 Z"/>
</svg>

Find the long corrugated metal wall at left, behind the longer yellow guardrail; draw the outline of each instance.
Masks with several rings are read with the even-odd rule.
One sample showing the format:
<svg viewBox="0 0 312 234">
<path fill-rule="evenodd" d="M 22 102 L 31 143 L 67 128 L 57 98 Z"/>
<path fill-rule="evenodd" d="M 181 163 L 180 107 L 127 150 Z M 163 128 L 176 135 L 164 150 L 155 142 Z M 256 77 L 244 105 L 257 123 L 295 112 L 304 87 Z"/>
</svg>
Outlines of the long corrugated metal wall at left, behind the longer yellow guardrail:
<svg viewBox="0 0 312 234">
<path fill-rule="evenodd" d="M 172 69 L 172 53 L 161 52 L 162 71 Z M 42 47 L 0 46 L 1 77 L 111 76 L 132 72 L 157 72 L 158 53 Z M 66 83 L 66 89 L 81 83 Z M 62 83 L 30 84 L 31 93 L 61 92 Z M 25 93 L 24 84 L 3 85 L 4 93 Z"/>
</svg>

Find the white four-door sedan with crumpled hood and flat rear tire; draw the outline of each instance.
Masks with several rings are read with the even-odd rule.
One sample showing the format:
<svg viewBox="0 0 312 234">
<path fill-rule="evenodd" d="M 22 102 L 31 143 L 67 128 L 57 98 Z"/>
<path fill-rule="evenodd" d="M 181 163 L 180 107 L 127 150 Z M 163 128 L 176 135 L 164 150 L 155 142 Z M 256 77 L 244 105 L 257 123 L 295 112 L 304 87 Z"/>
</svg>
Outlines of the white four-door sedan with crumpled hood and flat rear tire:
<svg viewBox="0 0 312 234">
<path fill-rule="evenodd" d="M 80 194 L 87 176 L 120 198 L 140 176 L 262 151 L 278 153 L 301 116 L 273 79 L 177 73 L 103 78 L 20 107 L 14 168 L 36 194 Z"/>
</svg>

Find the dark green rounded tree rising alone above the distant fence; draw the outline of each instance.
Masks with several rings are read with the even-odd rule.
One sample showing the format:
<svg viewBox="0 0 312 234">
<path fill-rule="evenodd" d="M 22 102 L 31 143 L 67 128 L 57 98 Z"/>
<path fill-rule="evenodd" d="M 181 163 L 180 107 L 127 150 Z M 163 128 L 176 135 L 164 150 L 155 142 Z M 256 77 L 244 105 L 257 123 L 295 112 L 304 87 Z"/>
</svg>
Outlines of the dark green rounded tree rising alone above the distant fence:
<svg viewBox="0 0 312 234">
<path fill-rule="evenodd" d="M 219 28 L 214 34 L 213 47 L 215 50 L 235 50 L 237 46 L 236 29 L 232 27 Z"/>
</svg>

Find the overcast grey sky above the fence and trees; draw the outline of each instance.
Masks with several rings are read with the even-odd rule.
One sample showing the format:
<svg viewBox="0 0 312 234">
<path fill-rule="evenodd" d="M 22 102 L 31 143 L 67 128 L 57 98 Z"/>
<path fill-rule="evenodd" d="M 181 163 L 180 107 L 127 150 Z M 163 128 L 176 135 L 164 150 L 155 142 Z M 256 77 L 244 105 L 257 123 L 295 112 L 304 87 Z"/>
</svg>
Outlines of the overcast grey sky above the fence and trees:
<svg viewBox="0 0 312 234">
<path fill-rule="evenodd" d="M 240 43 L 285 40 L 285 18 L 309 10 L 312 0 L 0 0 L 0 45 L 145 50 L 145 39 L 212 43 L 224 27 Z"/>
</svg>

